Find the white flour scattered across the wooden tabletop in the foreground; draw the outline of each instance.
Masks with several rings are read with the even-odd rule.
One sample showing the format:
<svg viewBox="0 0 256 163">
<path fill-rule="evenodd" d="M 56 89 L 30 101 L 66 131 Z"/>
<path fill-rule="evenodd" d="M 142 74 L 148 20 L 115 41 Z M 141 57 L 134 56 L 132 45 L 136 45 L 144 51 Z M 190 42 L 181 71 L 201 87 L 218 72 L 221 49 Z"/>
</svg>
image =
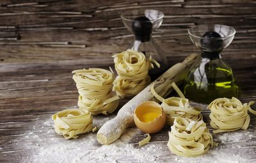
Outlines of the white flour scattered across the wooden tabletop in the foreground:
<svg viewBox="0 0 256 163">
<path fill-rule="evenodd" d="M 114 116 L 93 117 L 96 127 L 102 126 Z M 42 128 L 42 124 L 44 128 Z M 239 130 L 224 134 L 215 134 L 214 141 L 219 143 L 201 157 L 179 157 L 170 152 L 166 146 L 167 140 L 145 144 L 139 147 L 132 144 L 132 138 L 136 134 L 142 134 L 137 128 L 129 128 L 123 136 L 113 144 L 100 145 L 95 133 L 81 135 L 78 139 L 66 140 L 55 134 L 50 118 L 39 121 L 33 126 L 33 130 L 24 134 L 26 141 L 17 144 L 22 145 L 30 153 L 22 162 L 209 162 L 209 163 L 233 163 L 250 162 L 255 155 L 255 150 L 243 148 L 245 138 L 255 138 L 252 132 Z M 31 140 L 34 140 L 33 143 Z M 36 140 L 36 141 L 35 141 Z M 247 139 L 248 140 L 248 139 Z M 125 158 L 125 159 L 124 159 Z"/>
</svg>

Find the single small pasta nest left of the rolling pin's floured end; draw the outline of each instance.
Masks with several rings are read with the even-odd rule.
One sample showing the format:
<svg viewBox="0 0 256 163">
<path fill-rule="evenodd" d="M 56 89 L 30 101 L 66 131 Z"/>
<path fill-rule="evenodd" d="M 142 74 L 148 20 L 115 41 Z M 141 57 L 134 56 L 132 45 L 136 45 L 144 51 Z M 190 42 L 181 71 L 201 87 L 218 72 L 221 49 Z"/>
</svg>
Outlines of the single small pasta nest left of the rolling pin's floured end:
<svg viewBox="0 0 256 163">
<path fill-rule="evenodd" d="M 65 139 L 77 138 L 79 134 L 90 132 L 93 129 L 92 115 L 81 109 L 66 109 L 52 115 L 54 129 Z"/>
</svg>

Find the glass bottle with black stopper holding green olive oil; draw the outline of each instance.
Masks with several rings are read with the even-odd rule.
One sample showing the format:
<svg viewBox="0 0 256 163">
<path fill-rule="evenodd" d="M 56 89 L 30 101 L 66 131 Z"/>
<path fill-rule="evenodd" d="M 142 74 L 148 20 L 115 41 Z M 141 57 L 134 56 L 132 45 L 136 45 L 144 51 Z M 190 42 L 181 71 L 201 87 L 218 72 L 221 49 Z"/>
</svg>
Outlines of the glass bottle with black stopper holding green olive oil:
<svg viewBox="0 0 256 163">
<path fill-rule="evenodd" d="M 191 41 L 201 50 L 201 58 L 189 70 L 184 95 L 189 100 L 209 104 L 222 97 L 237 97 L 238 87 L 231 67 L 221 58 L 236 30 L 223 25 L 200 25 L 188 31 Z"/>
</svg>

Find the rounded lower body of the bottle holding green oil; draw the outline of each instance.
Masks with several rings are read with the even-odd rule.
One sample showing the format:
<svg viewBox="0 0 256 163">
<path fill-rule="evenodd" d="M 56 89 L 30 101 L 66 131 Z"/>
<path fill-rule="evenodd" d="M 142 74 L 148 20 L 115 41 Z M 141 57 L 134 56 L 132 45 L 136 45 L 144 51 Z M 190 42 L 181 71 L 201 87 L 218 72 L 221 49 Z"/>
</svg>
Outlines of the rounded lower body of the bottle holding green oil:
<svg viewBox="0 0 256 163">
<path fill-rule="evenodd" d="M 223 59 L 202 58 L 186 79 L 184 94 L 195 102 L 209 104 L 220 97 L 237 97 L 238 87 L 230 66 Z"/>
</svg>

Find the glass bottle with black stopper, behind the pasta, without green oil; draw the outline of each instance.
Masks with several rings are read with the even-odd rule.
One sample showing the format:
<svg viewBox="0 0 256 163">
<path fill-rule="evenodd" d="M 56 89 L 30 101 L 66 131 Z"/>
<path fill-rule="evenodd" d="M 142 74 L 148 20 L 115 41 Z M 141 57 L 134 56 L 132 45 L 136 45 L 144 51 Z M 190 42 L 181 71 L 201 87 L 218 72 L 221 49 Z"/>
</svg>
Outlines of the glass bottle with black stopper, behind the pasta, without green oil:
<svg viewBox="0 0 256 163">
<path fill-rule="evenodd" d="M 163 73 L 168 65 L 164 51 L 152 39 L 152 32 L 161 26 L 163 17 L 163 12 L 157 10 L 131 10 L 121 15 L 125 27 L 134 35 L 129 49 L 143 52 L 147 58 L 151 56 L 160 64 L 160 68 L 154 65 L 149 71 L 153 79 Z"/>
</svg>

